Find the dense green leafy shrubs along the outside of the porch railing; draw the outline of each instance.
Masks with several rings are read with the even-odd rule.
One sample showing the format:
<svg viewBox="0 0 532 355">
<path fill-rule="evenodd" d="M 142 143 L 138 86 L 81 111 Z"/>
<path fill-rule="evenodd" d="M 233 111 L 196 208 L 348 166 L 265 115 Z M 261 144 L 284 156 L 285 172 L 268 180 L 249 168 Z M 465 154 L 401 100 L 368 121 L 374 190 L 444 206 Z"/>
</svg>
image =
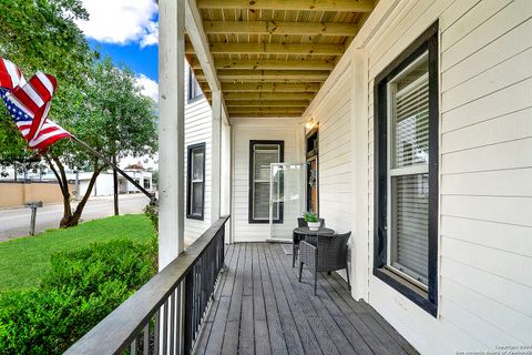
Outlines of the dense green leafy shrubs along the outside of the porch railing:
<svg viewBox="0 0 532 355">
<path fill-rule="evenodd" d="M 0 353 L 64 352 L 155 274 L 153 260 L 126 240 L 54 254 L 39 288 L 0 296 Z"/>
</svg>

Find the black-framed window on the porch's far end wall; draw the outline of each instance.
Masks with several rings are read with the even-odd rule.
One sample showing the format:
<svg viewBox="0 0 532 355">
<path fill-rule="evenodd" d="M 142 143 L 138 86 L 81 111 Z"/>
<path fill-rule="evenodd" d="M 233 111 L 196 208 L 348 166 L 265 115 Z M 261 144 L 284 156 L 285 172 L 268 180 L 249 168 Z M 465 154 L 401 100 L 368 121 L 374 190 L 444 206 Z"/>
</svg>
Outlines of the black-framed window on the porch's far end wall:
<svg viewBox="0 0 532 355">
<path fill-rule="evenodd" d="M 283 141 L 249 142 L 249 223 L 269 223 L 270 164 L 283 163 Z M 282 189 L 274 183 L 273 189 Z M 273 222 L 283 223 L 283 204 L 274 203 Z"/>
</svg>

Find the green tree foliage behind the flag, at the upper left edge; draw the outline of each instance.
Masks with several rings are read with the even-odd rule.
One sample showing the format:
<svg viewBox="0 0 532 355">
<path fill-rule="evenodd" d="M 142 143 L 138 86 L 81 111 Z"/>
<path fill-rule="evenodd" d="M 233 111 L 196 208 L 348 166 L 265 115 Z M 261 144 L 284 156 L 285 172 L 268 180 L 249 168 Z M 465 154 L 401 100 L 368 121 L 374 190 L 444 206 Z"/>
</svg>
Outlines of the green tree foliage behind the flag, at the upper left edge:
<svg viewBox="0 0 532 355">
<path fill-rule="evenodd" d="M 86 19 L 80 0 L 0 1 L 0 57 L 17 63 L 28 77 L 41 70 L 58 78 L 53 118 L 70 114 L 72 103 L 66 97 L 85 80 L 94 60 L 95 53 L 74 23 Z M 27 149 L 8 112 L 0 109 L 0 169 L 6 166 L 43 169 L 40 156 Z"/>
</svg>

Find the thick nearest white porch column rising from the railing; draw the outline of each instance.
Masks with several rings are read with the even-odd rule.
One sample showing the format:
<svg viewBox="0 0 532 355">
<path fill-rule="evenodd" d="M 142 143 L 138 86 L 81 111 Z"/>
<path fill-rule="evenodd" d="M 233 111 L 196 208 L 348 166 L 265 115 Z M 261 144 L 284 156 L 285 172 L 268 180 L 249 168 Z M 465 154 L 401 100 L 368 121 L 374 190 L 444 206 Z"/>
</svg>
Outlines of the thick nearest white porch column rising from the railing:
<svg viewBox="0 0 532 355">
<path fill-rule="evenodd" d="M 184 248 L 185 1 L 158 1 L 158 268 Z"/>
</svg>

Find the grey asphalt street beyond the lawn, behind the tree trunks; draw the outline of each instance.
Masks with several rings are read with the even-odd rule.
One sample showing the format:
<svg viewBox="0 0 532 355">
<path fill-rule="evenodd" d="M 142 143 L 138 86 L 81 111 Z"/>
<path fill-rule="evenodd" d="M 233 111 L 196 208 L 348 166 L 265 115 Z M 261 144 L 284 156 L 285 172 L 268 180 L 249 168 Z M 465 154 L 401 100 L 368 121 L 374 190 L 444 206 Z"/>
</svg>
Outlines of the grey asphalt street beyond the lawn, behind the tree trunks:
<svg viewBox="0 0 532 355">
<path fill-rule="evenodd" d="M 147 203 L 149 200 L 143 194 L 120 195 L 120 214 L 141 213 Z M 83 221 L 90 221 L 113 214 L 113 196 L 93 197 L 86 203 L 81 219 Z M 44 205 L 42 209 L 38 209 L 35 234 L 49 229 L 59 227 L 59 222 L 62 216 L 62 204 Z M 0 210 L 0 242 L 28 235 L 30 231 L 30 209 Z"/>
</svg>

